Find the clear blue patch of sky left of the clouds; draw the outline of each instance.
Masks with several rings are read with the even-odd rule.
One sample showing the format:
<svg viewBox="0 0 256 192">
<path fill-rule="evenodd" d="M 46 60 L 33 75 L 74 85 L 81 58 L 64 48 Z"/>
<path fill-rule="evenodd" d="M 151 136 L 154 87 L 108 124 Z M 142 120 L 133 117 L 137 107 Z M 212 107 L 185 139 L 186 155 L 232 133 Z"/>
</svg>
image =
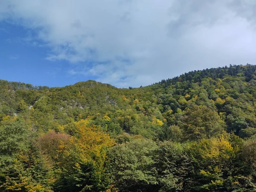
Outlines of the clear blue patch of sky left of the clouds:
<svg viewBox="0 0 256 192">
<path fill-rule="evenodd" d="M 49 48 L 27 41 L 32 31 L 22 26 L 0 22 L 0 79 L 50 87 L 65 86 L 95 77 L 72 76 L 68 61 L 45 59 Z"/>
</svg>

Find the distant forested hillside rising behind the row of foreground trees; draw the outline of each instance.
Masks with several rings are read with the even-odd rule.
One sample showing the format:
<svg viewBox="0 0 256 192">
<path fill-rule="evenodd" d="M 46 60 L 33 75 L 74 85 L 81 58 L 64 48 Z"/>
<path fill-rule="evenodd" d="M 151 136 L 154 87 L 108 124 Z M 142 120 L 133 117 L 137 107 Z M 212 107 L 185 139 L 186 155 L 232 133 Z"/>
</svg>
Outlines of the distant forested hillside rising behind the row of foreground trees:
<svg viewBox="0 0 256 192">
<path fill-rule="evenodd" d="M 163 123 L 187 129 L 193 112 L 189 108 L 201 105 L 193 110 L 200 113 L 205 106 L 225 122 L 224 130 L 247 137 L 256 133 L 255 70 L 253 65 L 238 65 L 192 71 L 130 89 L 96 81 L 49 88 L 2 80 L 0 117 L 22 116 L 40 131 L 90 119 L 113 136 L 126 131 L 155 139 Z"/>
</svg>

